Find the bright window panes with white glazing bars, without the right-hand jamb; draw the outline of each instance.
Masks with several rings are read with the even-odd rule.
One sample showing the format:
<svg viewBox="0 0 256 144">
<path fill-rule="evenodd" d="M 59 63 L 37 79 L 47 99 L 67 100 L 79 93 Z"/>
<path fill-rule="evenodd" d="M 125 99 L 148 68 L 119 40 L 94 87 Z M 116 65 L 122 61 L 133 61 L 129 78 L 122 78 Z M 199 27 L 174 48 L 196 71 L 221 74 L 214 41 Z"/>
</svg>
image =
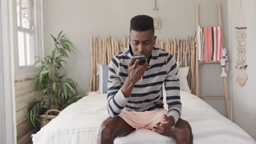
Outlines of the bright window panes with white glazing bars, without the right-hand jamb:
<svg viewBox="0 0 256 144">
<path fill-rule="evenodd" d="M 18 26 L 19 66 L 33 65 L 36 61 L 34 2 L 16 0 Z"/>
</svg>

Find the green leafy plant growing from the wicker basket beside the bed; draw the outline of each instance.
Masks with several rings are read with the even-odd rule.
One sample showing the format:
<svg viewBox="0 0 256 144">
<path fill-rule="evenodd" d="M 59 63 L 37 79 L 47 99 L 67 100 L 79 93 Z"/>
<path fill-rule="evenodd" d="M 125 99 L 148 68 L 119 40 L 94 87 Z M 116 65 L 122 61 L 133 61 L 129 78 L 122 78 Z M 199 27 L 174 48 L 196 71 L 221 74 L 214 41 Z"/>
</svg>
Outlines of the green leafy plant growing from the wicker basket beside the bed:
<svg viewBox="0 0 256 144">
<path fill-rule="evenodd" d="M 79 94 L 77 91 L 77 83 L 61 75 L 63 69 L 63 59 L 68 58 L 68 53 L 74 52 L 75 47 L 71 41 L 59 33 L 54 39 L 55 49 L 48 53 L 42 61 L 37 61 L 34 66 L 40 71 L 33 81 L 33 87 L 43 95 L 42 98 L 32 101 L 28 106 L 28 119 L 35 128 L 39 128 L 39 115 L 44 114 L 47 110 L 57 109 L 63 110 L 68 105 L 75 103 L 80 98 L 88 94 Z M 51 115 L 57 115 L 51 112 Z"/>
</svg>

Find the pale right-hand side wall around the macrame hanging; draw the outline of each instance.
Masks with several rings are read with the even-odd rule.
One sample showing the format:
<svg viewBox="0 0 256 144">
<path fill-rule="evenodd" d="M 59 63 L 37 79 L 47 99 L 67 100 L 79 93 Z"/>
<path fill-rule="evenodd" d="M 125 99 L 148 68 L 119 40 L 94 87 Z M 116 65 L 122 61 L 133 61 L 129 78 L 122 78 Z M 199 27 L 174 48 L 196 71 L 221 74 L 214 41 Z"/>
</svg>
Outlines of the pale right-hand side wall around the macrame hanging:
<svg viewBox="0 0 256 144">
<path fill-rule="evenodd" d="M 230 7 L 230 44 L 232 56 L 232 101 L 233 101 L 233 117 L 234 122 L 245 129 L 254 140 L 256 140 L 256 1 L 242 1 L 243 9 L 245 10 L 245 21 L 247 26 L 246 50 L 247 50 L 247 74 L 248 81 L 244 87 L 240 87 L 236 82 L 236 74 L 239 73 L 235 69 L 236 63 L 236 31 L 237 15 L 240 1 L 229 0 Z"/>
</svg>

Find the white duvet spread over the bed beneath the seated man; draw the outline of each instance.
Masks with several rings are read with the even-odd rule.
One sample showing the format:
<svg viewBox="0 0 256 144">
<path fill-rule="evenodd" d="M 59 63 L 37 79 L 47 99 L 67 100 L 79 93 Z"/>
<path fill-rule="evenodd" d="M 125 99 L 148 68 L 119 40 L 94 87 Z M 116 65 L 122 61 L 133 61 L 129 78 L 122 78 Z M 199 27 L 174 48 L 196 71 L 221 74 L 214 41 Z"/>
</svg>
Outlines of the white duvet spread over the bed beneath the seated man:
<svg viewBox="0 0 256 144">
<path fill-rule="evenodd" d="M 165 92 L 164 92 L 165 94 Z M 251 136 L 193 94 L 181 92 L 182 118 L 191 125 L 194 143 L 256 143 Z M 91 92 L 68 106 L 59 116 L 33 134 L 34 144 L 97 143 L 100 124 L 108 117 L 107 95 Z M 166 105 L 165 105 L 166 107 Z M 176 143 L 154 131 L 139 129 L 117 143 Z"/>
</svg>

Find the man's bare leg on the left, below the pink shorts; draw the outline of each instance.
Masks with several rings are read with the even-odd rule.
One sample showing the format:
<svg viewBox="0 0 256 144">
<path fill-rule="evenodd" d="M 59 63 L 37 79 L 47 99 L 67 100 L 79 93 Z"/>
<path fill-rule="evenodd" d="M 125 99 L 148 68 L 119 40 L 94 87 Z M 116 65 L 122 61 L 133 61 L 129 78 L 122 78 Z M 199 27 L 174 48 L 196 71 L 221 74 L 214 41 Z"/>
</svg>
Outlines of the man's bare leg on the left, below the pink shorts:
<svg viewBox="0 0 256 144">
<path fill-rule="evenodd" d="M 98 144 L 112 144 L 118 136 L 126 136 L 132 133 L 135 128 L 132 128 L 121 117 L 108 117 L 102 122 L 98 133 Z"/>
</svg>

